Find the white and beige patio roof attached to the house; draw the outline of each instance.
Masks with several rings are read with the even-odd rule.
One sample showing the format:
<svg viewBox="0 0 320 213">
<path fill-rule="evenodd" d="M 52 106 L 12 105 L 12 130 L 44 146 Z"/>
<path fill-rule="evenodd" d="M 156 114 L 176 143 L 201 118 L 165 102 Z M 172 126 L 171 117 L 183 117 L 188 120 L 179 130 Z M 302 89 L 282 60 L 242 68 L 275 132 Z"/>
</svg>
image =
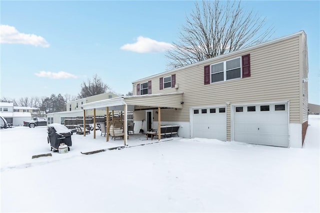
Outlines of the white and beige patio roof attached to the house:
<svg viewBox="0 0 320 213">
<path fill-rule="evenodd" d="M 146 107 L 163 107 L 163 108 L 182 108 L 183 92 L 166 93 L 166 94 L 151 94 L 151 95 L 134 95 L 122 96 L 101 101 L 90 102 L 83 104 L 82 109 L 94 109 L 115 106 L 146 106 Z M 131 111 L 134 109 L 132 108 Z"/>
</svg>

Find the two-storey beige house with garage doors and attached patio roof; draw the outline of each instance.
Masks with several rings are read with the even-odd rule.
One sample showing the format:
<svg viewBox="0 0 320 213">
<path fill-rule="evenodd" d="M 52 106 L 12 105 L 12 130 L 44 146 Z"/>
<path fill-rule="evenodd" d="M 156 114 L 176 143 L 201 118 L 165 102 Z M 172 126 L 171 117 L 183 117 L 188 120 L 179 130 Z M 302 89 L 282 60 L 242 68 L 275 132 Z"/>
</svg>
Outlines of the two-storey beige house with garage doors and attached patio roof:
<svg viewBox="0 0 320 213">
<path fill-rule="evenodd" d="M 301 148 L 307 74 L 306 34 L 299 31 L 133 81 L 133 96 L 82 109 L 130 108 L 137 132 L 171 124 L 184 138 Z"/>
</svg>

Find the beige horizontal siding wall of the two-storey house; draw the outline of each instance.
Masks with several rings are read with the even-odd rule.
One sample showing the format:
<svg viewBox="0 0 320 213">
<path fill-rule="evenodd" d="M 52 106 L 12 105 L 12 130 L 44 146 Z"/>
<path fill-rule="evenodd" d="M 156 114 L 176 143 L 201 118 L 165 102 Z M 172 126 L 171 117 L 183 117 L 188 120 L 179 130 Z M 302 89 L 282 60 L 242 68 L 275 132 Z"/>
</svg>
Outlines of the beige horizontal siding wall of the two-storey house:
<svg viewBox="0 0 320 213">
<path fill-rule="evenodd" d="M 250 54 L 250 77 L 204 85 L 204 66 L 246 54 Z M 160 90 L 160 78 L 171 74 L 175 74 L 177 88 Z M 133 82 L 132 88 L 137 88 L 137 84 L 151 81 L 151 94 L 183 92 L 183 108 L 161 113 L 161 121 L 163 118 L 164 121 L 190 122 L 189 109 L 192 107 L 226 105 L 226 138 L 230 141 L 230 104 L 287 101 L 289 123 L 299 124 L 301 135 L 301 125 L 303 121 L 307 121 L 307 83 L 303 83 L 302 86 L 303 77 L 307 77 L 307 48 L 306 36 L 301 31 L 254 47 L 140 79 Z M 137 94 L 136 89 L 133 90 L 133 94 Z M 141 119 L 143 113 L 135 113 L 136 117 Z M 289 134 L 294 135 L 294 132 L 289 131 Z M 301 140 L 299 141 L 301 144 Z"/>
</svg>

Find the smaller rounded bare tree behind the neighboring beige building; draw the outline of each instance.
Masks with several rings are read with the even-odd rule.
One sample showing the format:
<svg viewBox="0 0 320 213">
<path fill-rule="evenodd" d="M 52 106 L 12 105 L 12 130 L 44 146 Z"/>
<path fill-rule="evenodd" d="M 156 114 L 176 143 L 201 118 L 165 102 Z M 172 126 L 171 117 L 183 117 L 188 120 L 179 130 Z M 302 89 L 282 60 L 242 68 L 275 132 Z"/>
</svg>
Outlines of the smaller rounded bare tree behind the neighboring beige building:
<svg viewBox="0 0 320 213">
<path fill-rule="evenodd" d="M 111 91 L 109 86 L 103 83 L 101 78 L 95 74 L 93 75 L 92 80 L 88 79 L 87 82 L 83 81 L 78 98 L 86 98 L 92 95 L 102 94 L 107 91 Z"/>
</svg>

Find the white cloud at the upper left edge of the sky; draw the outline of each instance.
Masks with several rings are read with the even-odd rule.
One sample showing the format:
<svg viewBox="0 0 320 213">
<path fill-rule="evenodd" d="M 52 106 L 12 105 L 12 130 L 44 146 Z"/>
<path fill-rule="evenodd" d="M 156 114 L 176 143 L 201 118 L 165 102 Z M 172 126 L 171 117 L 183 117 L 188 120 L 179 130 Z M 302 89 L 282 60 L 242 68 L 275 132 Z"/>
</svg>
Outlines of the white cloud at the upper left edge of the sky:
<svg viewBox="0 0 320 213">
<path fill-rule="evenodd" d="M 0 43 L 22 43 L 41 47 L 50 46 L 41 36 L 21 33 L 15 27 L 3 24 L 0 25 Z"/>
</svg>

